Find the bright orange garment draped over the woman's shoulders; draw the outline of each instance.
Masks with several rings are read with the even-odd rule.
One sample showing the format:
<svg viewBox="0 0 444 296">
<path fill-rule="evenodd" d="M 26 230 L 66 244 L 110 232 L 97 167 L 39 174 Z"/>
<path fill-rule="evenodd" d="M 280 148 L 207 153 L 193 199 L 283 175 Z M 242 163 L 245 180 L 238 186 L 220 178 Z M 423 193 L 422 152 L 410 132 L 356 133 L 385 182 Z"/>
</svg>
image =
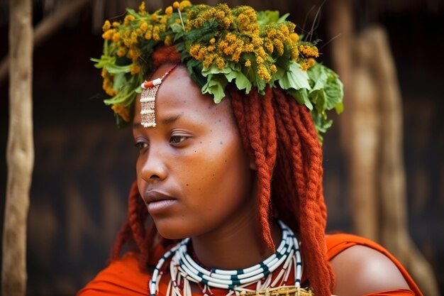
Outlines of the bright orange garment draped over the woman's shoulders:
<svg viewBox="0 0 444 296">
<path fill-rule="evenodd" d="M 390 258 L 399 268 L 402 275 L 409 284 L 411 290 L 389 290 L 374 292 L 363 296 L 422 296 L 414 280 L 406 272 L 405 268 L 399 263 L 392 254 L 368 239 L 350 234 L 333 234 L 326 237 L 328 260 L 338 255 L 347 248 L 355 245 L 367 246 L 373 248 Z M 162 256 L 162 250 L 156 250 L 155 257 Z M 138 268 L 137 256 L 134 253 L 126 253 L 123 258 L 113 261 L 107 268 L 102 270 L 94 280 L 91 280 L 77 296 L 104 296 L 104 295 L 149 295 L 148 280 L 150 275 L 140 272 Z M 167 290 L 167 276 L 162 277 L 159 284 L 160 294 Z M 213 291 L 215 292 L 215 291 Z M 197 295 L 196 295 L 197 296 Z"/>
</svg>

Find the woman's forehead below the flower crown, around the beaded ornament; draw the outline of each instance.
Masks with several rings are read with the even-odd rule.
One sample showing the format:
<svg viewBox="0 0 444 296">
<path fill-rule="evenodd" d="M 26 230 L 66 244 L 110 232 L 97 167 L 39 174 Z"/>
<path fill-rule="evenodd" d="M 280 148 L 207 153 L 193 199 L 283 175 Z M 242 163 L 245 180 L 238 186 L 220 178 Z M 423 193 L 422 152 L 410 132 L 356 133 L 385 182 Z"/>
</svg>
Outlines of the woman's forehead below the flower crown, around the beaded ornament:
<svg viewBox="0 0 444 296">
<path fill-rule="evenodd" d="M 162 77 L 174 65 L 160 66 L 150 77 L 150 80 Z M 183 65 L 175 67 L 167 75 L 157 90 L 155 99 L 156 121 L 167 116 L 179 114 L 194 114 L 194 116 L 209 116 L 212 119 L 231 117 L 231 105 L 228 99 L 215 104 L 213 97 L 202 94 L 200 87 L 194 82 Z M 135 121 L 140 121 L 140 95 L 135 103 Z"/>
</svg>

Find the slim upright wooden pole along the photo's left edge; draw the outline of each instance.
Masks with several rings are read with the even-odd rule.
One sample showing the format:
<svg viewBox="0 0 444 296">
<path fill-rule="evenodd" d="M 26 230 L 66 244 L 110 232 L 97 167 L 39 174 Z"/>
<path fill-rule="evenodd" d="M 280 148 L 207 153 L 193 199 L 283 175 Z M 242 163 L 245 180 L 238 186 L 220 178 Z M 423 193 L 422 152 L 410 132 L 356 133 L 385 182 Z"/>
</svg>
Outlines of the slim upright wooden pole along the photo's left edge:
<svg viewBox="0 0 444 296">
<path fill-rule="evenodd" d="M 26 294 L 26 220 L 34 163 L 32 0 L 11 0 L 9 18 L 8 180 L 3 232 L 2 295 Z"/>
</svg>

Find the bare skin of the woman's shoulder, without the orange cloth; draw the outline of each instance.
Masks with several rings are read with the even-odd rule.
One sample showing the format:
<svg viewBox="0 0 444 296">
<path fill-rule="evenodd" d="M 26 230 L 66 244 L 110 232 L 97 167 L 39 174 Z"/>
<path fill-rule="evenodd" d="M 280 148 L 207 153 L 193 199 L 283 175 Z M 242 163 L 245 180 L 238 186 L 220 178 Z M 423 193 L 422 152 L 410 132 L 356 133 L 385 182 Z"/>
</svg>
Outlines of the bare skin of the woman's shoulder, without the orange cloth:
<svg viewBox="0 0 444 296">
<path fill-rule="evenodd" d="M 331 260 L 335 295 L 357 296 L 385 290 L 409 289 L 396 265 L 367 246 L 352 246 Z"/>
</svg>

